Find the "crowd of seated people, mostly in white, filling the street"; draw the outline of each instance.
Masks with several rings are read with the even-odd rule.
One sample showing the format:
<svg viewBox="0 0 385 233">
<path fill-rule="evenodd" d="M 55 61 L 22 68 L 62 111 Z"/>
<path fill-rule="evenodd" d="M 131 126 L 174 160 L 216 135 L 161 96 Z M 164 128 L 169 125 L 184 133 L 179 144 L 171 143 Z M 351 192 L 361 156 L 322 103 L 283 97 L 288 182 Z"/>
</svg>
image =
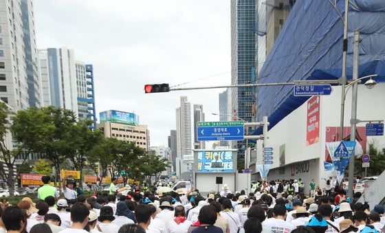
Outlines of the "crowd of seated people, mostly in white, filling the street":
<svg viewBox="0 0 385 233">
<path fill-rule="evenodd" d="M 384 207 L 349 199 L 340 186 L 305 195 L 294 180 L 257 182 L 250 193 L 233 193 L 223 184 L 221 192 L 201 195 L 140 192 L 139 186 L 118 192 L 111 184 L 109 192 L 86 198 L 76 196 L 68 182 L 61 198 L 47 180 L 39 189 L 41 201 L 3 202 L 0 233 L 384 232 Z"/>
</svg>

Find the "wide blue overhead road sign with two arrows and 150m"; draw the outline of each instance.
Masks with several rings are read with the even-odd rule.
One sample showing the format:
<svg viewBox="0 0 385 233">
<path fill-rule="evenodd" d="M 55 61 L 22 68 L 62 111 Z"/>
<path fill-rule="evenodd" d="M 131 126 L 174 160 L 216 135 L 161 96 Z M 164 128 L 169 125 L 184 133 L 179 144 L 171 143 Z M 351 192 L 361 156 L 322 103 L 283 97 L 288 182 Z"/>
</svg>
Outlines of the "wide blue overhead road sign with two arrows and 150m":
<svg viewBox="0 0 385 233">
<path fill-rule="evenodd" d="M 198 141 L 243 140 L 243 121 L 198 122 Z"/>
</svg>

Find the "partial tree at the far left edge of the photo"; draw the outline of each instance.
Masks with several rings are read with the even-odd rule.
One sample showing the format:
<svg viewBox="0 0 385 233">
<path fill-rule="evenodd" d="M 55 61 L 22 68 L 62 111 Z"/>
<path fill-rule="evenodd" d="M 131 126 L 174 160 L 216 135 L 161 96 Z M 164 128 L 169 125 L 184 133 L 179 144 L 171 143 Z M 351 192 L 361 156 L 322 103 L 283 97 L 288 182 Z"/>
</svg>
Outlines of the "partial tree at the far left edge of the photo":
<svg viewBox="0 0 385 233">
<path fill-rule="evenodd" d="M 16 184 L 14 165 L 17 155 L 20 155 L 23 151 L 22 145 L 18 145 L 14 150 L 11 149 L 12 135 L 10 133 L 10 115 L 12 114 L 7 104 L 0 102 L 0 159 L 2 161 L 2 163 L 0 163 L 0 176 L 8 186 L 10 197 L 14 196 L 14 185 Z M 25 160 L 21 165 L 23 165 L 24 162 Z M 8 170 L 5 170 L 4 165 Z"/>
</svg>

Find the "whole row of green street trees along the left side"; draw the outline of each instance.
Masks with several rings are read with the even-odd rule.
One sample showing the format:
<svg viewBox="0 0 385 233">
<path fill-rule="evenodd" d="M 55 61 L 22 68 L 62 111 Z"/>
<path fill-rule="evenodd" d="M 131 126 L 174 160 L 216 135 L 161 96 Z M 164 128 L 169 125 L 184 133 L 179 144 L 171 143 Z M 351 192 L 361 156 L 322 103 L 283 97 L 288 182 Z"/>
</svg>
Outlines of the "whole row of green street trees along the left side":
<svg viewBox="0 0 385 233">
<path fill-rule="evenodd" d="M 90 129 L 91 124 L 91 120 L 78 120 L 68 109 L 43 107 L 14 113 L 0 102 L 0 177 L 10 195 L 17 182 L 14 173 L 19 174 L 17 159 L 22 168 L 31 153 L 41 155 L 54 167 L 55 183 L 61 181 L 63 164 L 80 172 L 87 167 L 98 181 L 107 173 L 121 175 L 124 184 L 129 178 L 158 177 L 169 166 L 167 159 L 147 153 L 135 142 L 103 137 L 100 130 Z"/>
</svg>

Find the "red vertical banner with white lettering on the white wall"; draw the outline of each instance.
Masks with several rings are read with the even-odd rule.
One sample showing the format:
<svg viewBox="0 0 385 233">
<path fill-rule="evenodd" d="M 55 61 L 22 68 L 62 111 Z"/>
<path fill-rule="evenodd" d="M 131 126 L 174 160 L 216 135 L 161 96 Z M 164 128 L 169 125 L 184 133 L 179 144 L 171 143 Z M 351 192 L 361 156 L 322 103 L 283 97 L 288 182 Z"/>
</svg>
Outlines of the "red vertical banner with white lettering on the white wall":
<svg viewBox="0 0 385 233">
<path fill-rule="evenodd" d="M 307 100 L 306 146 L 320 141 L 320 96 Z"/>
</svg>

